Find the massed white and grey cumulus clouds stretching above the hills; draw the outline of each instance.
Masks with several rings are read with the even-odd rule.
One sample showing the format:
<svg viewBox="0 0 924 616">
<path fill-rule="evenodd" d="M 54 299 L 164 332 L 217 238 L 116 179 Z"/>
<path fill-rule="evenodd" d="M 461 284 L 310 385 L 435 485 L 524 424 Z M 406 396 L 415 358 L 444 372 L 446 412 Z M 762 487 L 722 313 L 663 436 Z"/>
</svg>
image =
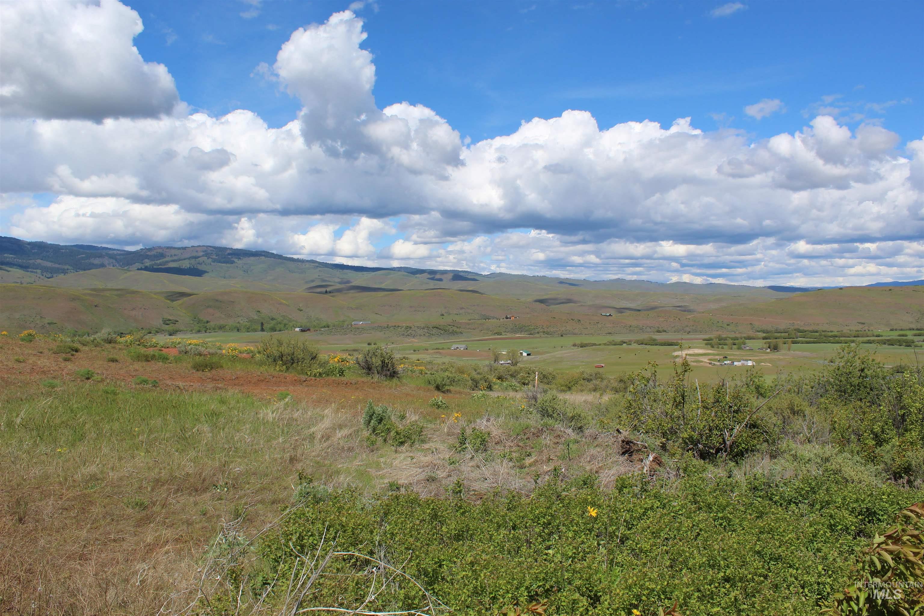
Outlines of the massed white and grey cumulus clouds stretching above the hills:
<svg viewBox="0 0 924 616">
<path fill-rule="evenodd" d="M 137 14 L 115 0 L 62 6 L 5 5 L 3 17 L 41 15 L 42 36 L 56 38 L 55 11 L 97 11 L 80 35 L 108 37 L 112 66 L 176 92 L 166 69 L 130 46 Z M 432 109 L 377 106 L 362 26 L 344 11 L 292 33 L 261 68 L 302 109 L 269 128 L 245 110 L 167 115 L 169 96 L 156 109 L 128 99 L 63 106 L 48 92 L 72 87 L 66 77 L 46 71 L 47 85 L 32 89 L 18 81 L 35 63 L 16 50 L 38 35 L 5 24 L 2 92 L 13 98 L 0 99 L 0 189 L 57 195 L 16 214 L 8 232 L 594 278 L 861 283 L 924 267 L 922 140 L 898 151 L 894 133 L 851 131 L 828 115 L 755 142 L 690 118 L 602 129 L 569 110 L 468 145 Z M 94 70 L 67 41 L 47 53 Z"/>
</svg>

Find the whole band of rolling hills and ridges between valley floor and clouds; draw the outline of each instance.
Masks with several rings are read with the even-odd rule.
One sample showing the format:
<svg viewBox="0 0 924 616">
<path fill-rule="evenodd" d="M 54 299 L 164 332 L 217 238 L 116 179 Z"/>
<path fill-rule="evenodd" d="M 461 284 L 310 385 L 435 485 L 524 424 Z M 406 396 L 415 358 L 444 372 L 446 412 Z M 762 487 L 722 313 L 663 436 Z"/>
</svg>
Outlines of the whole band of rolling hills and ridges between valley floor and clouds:
<svg viewBox="0 0 924 616">
<path fill-rule="evenodd" d="M 187 327 L 195 320 L 274 318 L 306 324 L 455 321 L 503 332 L 924 328 L 921 286 L 782 293 L 736 284 L 359 267 L 237 248 L 127 251 L 10 237 L 0 237 L 0 291 L 0 327 L 12 330 L 125 331 L 167 321 Z"/>
</svg>

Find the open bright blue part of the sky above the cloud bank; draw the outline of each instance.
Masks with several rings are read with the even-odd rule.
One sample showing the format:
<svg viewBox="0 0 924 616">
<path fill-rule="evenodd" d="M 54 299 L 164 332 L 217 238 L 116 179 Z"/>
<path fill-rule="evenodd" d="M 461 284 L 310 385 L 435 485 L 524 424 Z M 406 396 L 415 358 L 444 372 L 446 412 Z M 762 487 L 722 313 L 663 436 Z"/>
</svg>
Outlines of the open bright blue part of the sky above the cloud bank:
<svg viewBox="0 0 924 616">
<path fill-rule="evenodd" d="M 287 0 L 126 4 L 145 21 L 136 39 L 141 54 L 170 68 L 184 101 L 213 115 L 251 109 L 275 127 L 300 105 L 250 74 L 273 63 L 291 30 L 346 8 Z M 711 11 L 722 3 L 375 6 L 358 12 L 370 33 L 363 47 L 375 56 L 376 101 L 422 103 L 471 139 L 509 134 L 522 120 L 565 109 L 590 111 L 602 127 L 691 115 L 699 127 L 770 137 L 801 127 L 803 112 L 834 94 L 903 139 L 924 131 L 922 3 L 757 2 L 718 18 Z M 255 17 L 241 17 L 249 12 Z M 744 114 L 766 98 L 787 111 L 760 121 Z M 866 106 L 890 102 L 882 111 Z"/>
</svg>

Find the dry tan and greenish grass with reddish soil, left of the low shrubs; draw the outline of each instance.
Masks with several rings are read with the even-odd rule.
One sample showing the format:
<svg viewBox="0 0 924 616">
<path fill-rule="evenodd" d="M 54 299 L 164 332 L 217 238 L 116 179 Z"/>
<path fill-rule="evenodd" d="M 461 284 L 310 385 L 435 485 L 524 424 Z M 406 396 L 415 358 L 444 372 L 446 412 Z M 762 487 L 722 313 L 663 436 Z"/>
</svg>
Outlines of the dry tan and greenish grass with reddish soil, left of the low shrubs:
<svg viewBox="0 0 924 616">
<path fill-rule="evenodd" d="M 425 496 L 444 496 L 461 479 L 477 499 L 495 489 L 529 492 L 555 466 L 565 476 L 595 472 L 604 485 L 638 467 L 609 437 L 542 427 L 512 397 L 446 396 L 464 415 L 456 423 L 427 406 L 432 390 L 422 388 L 272 380 L 229 368 L 221 386 L 189 391 L 171 383 L 201 374 L 114 368 L 104 360 L 111 348 L 81 350 L 74 366 L 61 368 L 38 342 L 10 346 L 0 348 L 3 613 L 176 613 L 188 597 L 172 597 L 194 585 L 223 524 L 243 511 L 245 535 L 269 524 L 290 503 L 299 473 L 369 491 L 396 482 Z M 98 370 L 103 380 L 77 380 L 76 368 Z M 164 386 L 131 385 L 129 368 Z M 49 377 L 61 386 L 43 386 Z M 238 386 L 257 397 L 238 395 Z M 296 398 L 270 399 L 274 388 Z M 425 441 L 370 447 L 360 423 L 368 397 L 400 400 L 407 421 L 425 426 Z M 456 451 L 462 426 L 490 432 L 488 451 Z M 566 450 L 567 442 L 577 444 Z"/>
</svg>

